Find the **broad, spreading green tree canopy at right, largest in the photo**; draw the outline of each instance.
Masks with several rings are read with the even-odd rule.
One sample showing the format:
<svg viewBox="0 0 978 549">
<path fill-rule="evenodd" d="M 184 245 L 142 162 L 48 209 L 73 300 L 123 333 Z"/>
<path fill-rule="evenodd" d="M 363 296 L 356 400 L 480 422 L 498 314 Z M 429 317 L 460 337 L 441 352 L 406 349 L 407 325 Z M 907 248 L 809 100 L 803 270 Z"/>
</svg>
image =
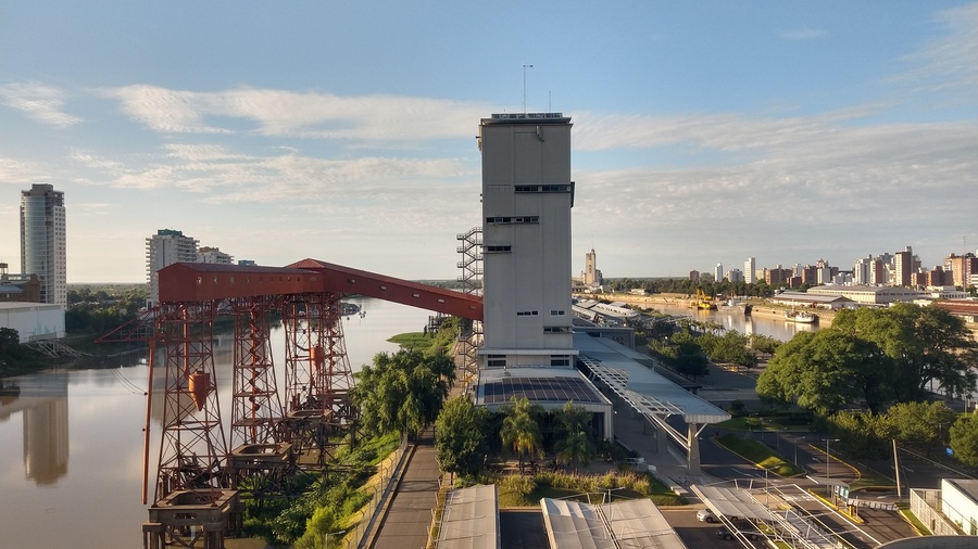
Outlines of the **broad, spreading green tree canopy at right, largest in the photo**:
<svg viewBox="0 0 978 549">
<path fill-rule="evenodd" d="M 974 390 L 976 358 L 964 322 L 942 309 L 843 310 L 831 328 L 778 347 L 757 394 L 824 416 L 858 404 L 879 412 L 893 401 L 924 400 L 932 384 L 954 396 Z"/>
</svg>

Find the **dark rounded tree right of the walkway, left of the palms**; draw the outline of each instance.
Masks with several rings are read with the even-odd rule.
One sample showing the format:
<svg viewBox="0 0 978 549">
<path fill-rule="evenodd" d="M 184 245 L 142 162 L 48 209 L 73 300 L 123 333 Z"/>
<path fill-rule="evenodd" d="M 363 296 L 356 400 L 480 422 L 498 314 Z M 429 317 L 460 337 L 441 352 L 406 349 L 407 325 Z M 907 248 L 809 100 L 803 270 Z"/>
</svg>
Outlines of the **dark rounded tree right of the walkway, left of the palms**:
<svg viewBox="0 0 978 549">
<path fill-rule="evenodd" d="M 474 475 L 482 468 L 489 413 L 465 396 L 448 400 L 435 421 L 435 451 L 447 473 Z"/>
</svg>

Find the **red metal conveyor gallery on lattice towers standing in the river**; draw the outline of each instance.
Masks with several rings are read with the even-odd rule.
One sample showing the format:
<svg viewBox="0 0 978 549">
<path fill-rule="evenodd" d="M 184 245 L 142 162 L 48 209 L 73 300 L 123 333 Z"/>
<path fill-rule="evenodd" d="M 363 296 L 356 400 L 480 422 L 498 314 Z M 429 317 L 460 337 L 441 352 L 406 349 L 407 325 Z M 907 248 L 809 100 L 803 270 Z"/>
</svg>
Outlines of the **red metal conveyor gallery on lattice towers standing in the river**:
<svg viewBox="0 0 978 549">
<path fill-rule="evenodd" d="M 225 529 L 240 524 L 236 488 L 242 480 L 259 473 L 281 477 L 303 464 L 322 464 L 329 437 L 355 423 L 342 296 L 482 318 L 478 295 L 315 259 L 286 267 L 174 264 L 158 274 L 160 305 L 99 340 L 147 342 L 151 385 L 155 362 L 163 358 L 162 443 L 150 521 L 143 524 L 143 546 L 153 549 L 168 541 L 196 547 L 200 539 L 205 549 L 223 547 L 224 534 L 215 524 Z M 217 403 L 223 381 L 213 356 L 214 323 L 224 312 L 233 316 L 235 341 L 230 450 Z M 272 314 L 281 316 L 285 328 L 281 390 L 271 353 Z M 147 393 L 147 480 L 151 399 L 152 390 Z"/>
</svg>

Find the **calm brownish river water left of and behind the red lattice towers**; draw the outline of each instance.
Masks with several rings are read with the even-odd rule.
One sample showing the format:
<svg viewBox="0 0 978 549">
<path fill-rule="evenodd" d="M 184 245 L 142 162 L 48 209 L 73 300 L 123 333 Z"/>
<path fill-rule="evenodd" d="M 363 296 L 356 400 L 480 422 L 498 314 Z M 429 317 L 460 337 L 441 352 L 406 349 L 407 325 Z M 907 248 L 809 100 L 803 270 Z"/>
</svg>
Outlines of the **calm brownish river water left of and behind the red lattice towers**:
<svg viewBox="0 0 978 549">
<path fill-rule="evenodd" d="M 343 322 L 354 371 L 377 353 L 397 350 L 386 340 L 421 331 L 431 315 L 378 299 L 348 301 L 365 311 Z M 275 363 L 281 369 L 280 328 L 273 329 L 272 341 Z M 230 421 L 233 343 L 227 334 L 214 346 L 225 423 Z M 141 524 L 148 518 L 141 503 L 147 376 L 146 358 L 128 357 L 114 368 L 4 380 L 20 385 L 21 393 L 0 396 L 0 549 L 142 547 Z M 162 385 L 159 372 L 154 378 L 154 385 Z M 154 409 L 162 403 L 155 395 Z M 155 445 L 150 454 L 151 484 L 159 455 L 160 410 L 151 423 Z M 229 434 L 227 426 L 225 433 Z"/>
</svg>

